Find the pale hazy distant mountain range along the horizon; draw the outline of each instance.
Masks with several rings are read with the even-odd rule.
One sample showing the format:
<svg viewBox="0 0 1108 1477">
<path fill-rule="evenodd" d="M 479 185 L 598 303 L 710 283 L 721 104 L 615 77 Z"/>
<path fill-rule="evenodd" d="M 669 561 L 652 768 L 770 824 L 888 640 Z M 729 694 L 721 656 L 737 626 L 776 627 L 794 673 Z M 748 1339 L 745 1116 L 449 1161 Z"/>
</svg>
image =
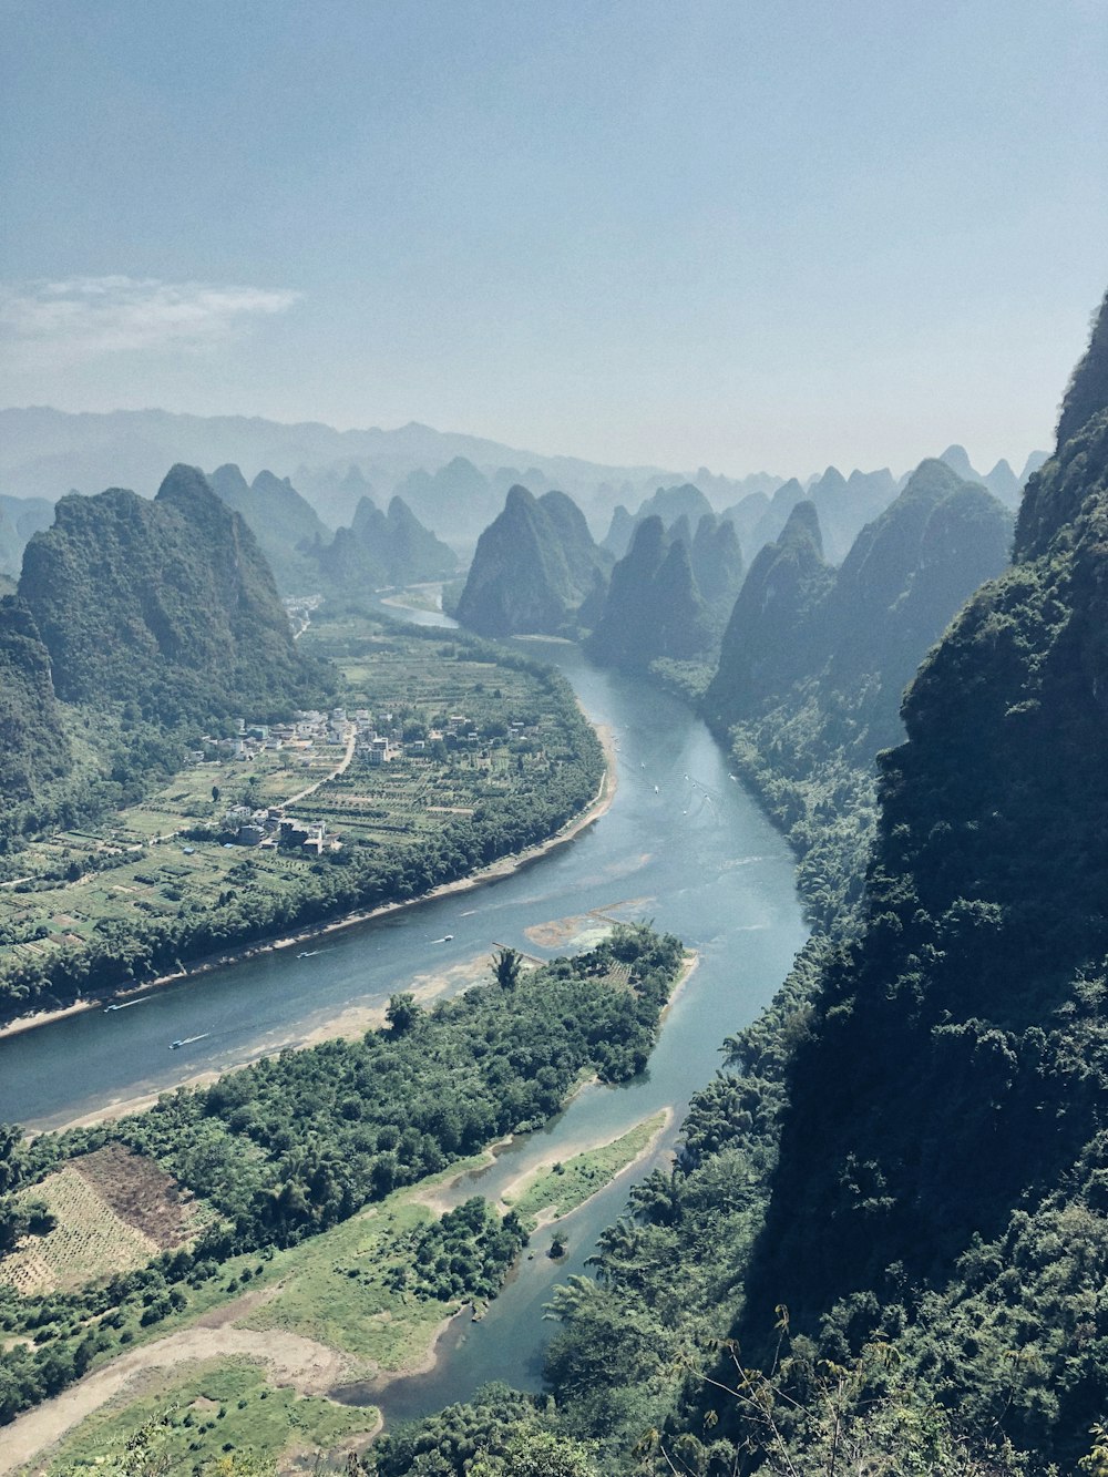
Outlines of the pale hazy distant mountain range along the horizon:
<svg viewBox="0 0 1108 1477">
<path fill-rule="evenodd" d="M 960 477 L 981 482 L 1002 502 L 1013 507 L 1028 471 L 1042 465 L 1046 453 L 1034 453 L 1021 476 L 1005 461 L 990 473 L 975 473 L 960 446 L 948 448 L 943 459 Z M 619 504 L 625 510 L 637 508 L 659 487 L 691 483 L 712 511 L 731 510 L 736 514 L 736 532 L 748 558 L 761 542 L 782 532 L 792 502 L 807 493 L 818 507 L 815 483 L 826 482 L 832 473 L 832 482 L 847 484 L 851 501 L 857 493 L 861 495 L 858 501 L 867 504 L 864 515 L 860 507 L 851 518 L 852 532 L 847 529 L 842 535 L 820 510 L 827 557 L 842 557 L 861 524 L 888 505 L 906 480 L 888 471 L 855 471 L 841 477 L 829 468 L 821 477 L 798 482 L 790 489 L 789 507 L 774 510 L 764 536 L 759 533 L 761 542 L 752 549 L 743 521 L 750 521 L 752 532 L 758 517 L 787 483 L 784 477 L 759 471 L 733 479 L 700 467 L 690 479 L 687 473 L 650 465 L 609 467 L 578 456 L 521 450 L 479 436 L 436 431 L 418 422 L 391 431 L 337 431 L 315 421 L 287 425 L 257 417 L 176 415 L 168 411 L 81 415 L 49 408 L 0 411 L 0 492 L 19 499 L 53 502 L 71 490 L 96 493 L 120 486 L 152 496 L 165 468 L 176 462 L 198 467 L 235 464 L 247 483 L 260 471 L 287 477 L 332 529 L 352 521 L 363 496 L 387 502 L 396 493 L 440 538 L 465 549 L 496 515 L 508 489 L 517 484 L 536 496 L 551 489 L 569 493 L 594 530 L 600 532 Z M 873 499 L 879 487 L 886 496 L 878 507 Z M 830 492 L 830 487 L 826 490 Z M 742 517 L 740 507 L 745 510 Z M 694 521 L 690 514 L 690 523 Z M 625 551 L 626 546 L 620 552 Z M 10 566 L 10 560 L 7 563 Z"/>
</svg>

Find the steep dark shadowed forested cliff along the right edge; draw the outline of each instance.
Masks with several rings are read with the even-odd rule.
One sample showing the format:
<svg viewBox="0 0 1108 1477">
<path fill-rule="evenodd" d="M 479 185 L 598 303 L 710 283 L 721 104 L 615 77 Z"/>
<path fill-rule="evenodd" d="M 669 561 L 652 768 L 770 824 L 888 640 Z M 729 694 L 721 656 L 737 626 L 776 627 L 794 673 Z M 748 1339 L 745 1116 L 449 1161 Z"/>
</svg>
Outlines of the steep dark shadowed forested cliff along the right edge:
<svg viewBox="0 0 1108 1477">
<path fill-rule="evenodd" d="M 982 1424 L 1012 1353 L 1005 1430 L 1067 1470 L 1108 1402 L 1107 312 L 1012 567 L 882 759 L 864 932 L 789 1072 L 746 1319 L 787 1303 L 839 1354 L 906 1328 Z"/>
</svg>

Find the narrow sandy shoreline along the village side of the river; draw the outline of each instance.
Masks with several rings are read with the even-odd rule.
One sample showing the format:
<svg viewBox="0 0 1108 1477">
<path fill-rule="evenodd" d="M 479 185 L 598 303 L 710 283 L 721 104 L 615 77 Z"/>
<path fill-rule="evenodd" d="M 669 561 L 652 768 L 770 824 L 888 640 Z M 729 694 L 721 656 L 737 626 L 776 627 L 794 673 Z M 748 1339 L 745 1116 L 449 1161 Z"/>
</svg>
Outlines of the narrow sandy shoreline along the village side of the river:
<svg viewBox="0 0 1108 1477">
<path fill-rule="evenodd" d="M 19 1016 L 19 1019 L 9 1021 L 7 1025 L 0 1027 L 0 1041 L 12 1035 L 22 1035 L 24 1031 L 37 1031 L 43 1027 L 55 1025 L 55 1022 L 65 1021 L 69 1016 L 83 1015 L 86 1010 L 106 1010 L 108 1006 L 105 1001 L 115 1003 L 136 1000 L 140 995 L 146 995 L 154 990 L 161 990 L 163 987 L 171 985 L 177 981 L 192 979 L 196 975 L 214 973 L 217 969 L 228 969 L 229 966 L 239 964 L 247 959 L 272 954 L 279 948 L 293 948 L 295 944 L 309 944 L 313 939 L 325 938 L 328 933 L 337 933 L 340 929 L 355 928 L 359 923 L 369 923 L 374 919 L 386 917 L 390 913 L 399 913 L 406 908 L 418 908 L 424 902 L 434 902 L 436 899 L 451 897 L 455 892 L 468 892 L 473 888 L 480 888 L 489 882 L 498 882 L 501 877 L 508 877 L 516 871 L 521 871 L 524 867 L 530 866 L 530 863 L 538 861 L 541 857 L 545 857 L 550 852 L 557 851 L 558 846 L 564 846 L 567 842 L 573 840 L 581 835 L 581 832 L 595 824 L 595 821 L 606 815 L 612 808 L 619 787 L 612 730 L 607 724 L 594 724 L 592 728 L 604 752 L 604 772 L 600 778 L 597 793 L 579 815 L 566 821 L 561 830 L 554 832 L 554 835 L 548 836 L 545 840 L 535 842 L 533 846 L 527 846 L 521 852 L 510 852 L 507 857 L 499 857 L 496 861 L 490 861 L 488 866 L 477 868 L 477 871 L 467 873 L 464 877 L 456 877 L 454 882 L 443 882 L 437 888 L 431 888 L 430 892 L 421 894 L 418 898 L 405 898 L 402 902 L 383 902 L 375 908 L 359 908 L 355 913 L 344 913 L 341 917 L 332 919 L 328 923 L 310 925 L 297 933 L 281 935 L 279 938 L 264 939 L 257 944 L 244 944 L 242 948 L 232 948 L 219 954 L 205 956 L 204 959 L 198 959 L 195 963 L 188 964 L 185 969 L 176 970 L 171 975 L 158 975 L 157 979 L 145 981 L 143 984 L 134 985 L 129 990 L 117 990 L 112 995 L 103 995 L 98 1000 L 77 1000 L 74 1004 L 59 1006 L 56 1010 L 40 1010 L 30 1016 Z M 164 1090 L 171 1092 L 171 1089 Z"/>
</svg>

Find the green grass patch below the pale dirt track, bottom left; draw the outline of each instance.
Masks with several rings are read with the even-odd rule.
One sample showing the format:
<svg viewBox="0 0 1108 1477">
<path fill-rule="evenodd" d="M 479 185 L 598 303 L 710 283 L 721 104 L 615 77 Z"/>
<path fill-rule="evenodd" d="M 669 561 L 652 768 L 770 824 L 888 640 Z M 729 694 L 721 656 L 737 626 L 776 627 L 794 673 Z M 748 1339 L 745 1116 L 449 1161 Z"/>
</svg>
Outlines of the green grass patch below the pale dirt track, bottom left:
<svg viewBox="0 0 1108 1477">
<path fill-rule="evenodd" d="M 137 1400 L 89 1416 L 46 1467 L 47 1477 L 103 1471 L 149 1422 L 151 1471 L 216 1471 L 220 1458 L 250 1453 L 278 1461 L 329 1449 L 372 1431 L 377 1412 L 275 1387 L 247 1359 L 205 1360 L 157 1380 Z M 41 1467 L 35 1467 L 41 1471 Z M 109 1467 L 114 1471 L 115 1468 Z M 146 1468 L 143 1468 L 146 1470 Z"/>
</svg>

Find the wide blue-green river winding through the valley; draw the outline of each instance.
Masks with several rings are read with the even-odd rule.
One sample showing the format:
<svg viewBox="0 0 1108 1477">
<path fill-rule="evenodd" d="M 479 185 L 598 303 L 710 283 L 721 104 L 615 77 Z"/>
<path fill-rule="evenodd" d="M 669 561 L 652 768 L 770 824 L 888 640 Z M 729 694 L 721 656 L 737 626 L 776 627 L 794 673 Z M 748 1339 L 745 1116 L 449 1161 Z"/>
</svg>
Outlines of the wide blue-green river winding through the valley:
<svg viewBox="0 0 1108 1477">
<path fill-rule="evenodd" d="M 656 1159 L 672 1151 L 690 1096 L 715 1072 L 722 1038 L 745 1025 L 779 988 L 807 931 L 782 837 L 727 770 L 725 755 L 680 702 L 635 678 L 601 671 L 566 644 L 526 642 L 554 662 L 595 722 L 616 741 L 612 808 L 572 842 L 479 889 L 433 899 L 325 935 L 298 957 L 288 948 L 139 997 L 126 1010 L 87 1012 L 0 1040 L 0 1120 L 46 1128 L 106 1102 L 160 1092 L 204 1071 L 303 1043 L 344 1009 L 375 1006 L 397 990 L 451 975 L 471 978 L 495 944 L 558 953 L 527 929 L 573 919 L 566 933 L 604 919 L 653 919 L 678 933 L 700 962 L 669 1010 L 649 1071 L 634 1083 L 589 1087 L 544 1131 L 502 1152 L 495 1165 L 454 1190 L 496 1195 L 533 1162 L 569 1158 L 662 1108 L 674 1127 Z M 448 935 L 451 935 L 448 938 Z M 470 973 L 467 975 L 467 966 Z M 194 1040 L 188 1040 L 194 1038 Z M 188 1044 L 170 1050 L 174 1040 Z M 550 1232 L 480 1322 L 459 1317 L 427 1375 L 372 1399 L 389 1421 L 468 1397 L 488 1380 L 538 1388 L 553 1332 L 542 1304 L 555 1282 L 584 1270 L 597 1233 L 623 1210 L 638 1165 L 560 1229 L 569 1254 L 553 1261 Z"/>
</svg>

